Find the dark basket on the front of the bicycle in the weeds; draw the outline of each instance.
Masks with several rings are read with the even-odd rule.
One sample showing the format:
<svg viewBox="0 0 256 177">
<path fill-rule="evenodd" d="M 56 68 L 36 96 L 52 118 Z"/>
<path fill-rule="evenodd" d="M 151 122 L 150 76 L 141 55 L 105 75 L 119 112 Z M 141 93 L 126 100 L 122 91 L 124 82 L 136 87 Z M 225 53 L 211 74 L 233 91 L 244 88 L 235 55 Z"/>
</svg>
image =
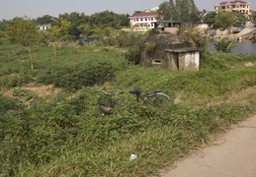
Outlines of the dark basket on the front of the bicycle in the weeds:
<svg viewBox="0 0 256 177">
<path fill-rule="evenodd" d="M 98 104 L 99 104 L 100 110 L 104 114 L 111 114 L 112 110 L 115 107 L 116 101 L 111 97 L 100 97 L 98 98 Z"/>
</svg>

